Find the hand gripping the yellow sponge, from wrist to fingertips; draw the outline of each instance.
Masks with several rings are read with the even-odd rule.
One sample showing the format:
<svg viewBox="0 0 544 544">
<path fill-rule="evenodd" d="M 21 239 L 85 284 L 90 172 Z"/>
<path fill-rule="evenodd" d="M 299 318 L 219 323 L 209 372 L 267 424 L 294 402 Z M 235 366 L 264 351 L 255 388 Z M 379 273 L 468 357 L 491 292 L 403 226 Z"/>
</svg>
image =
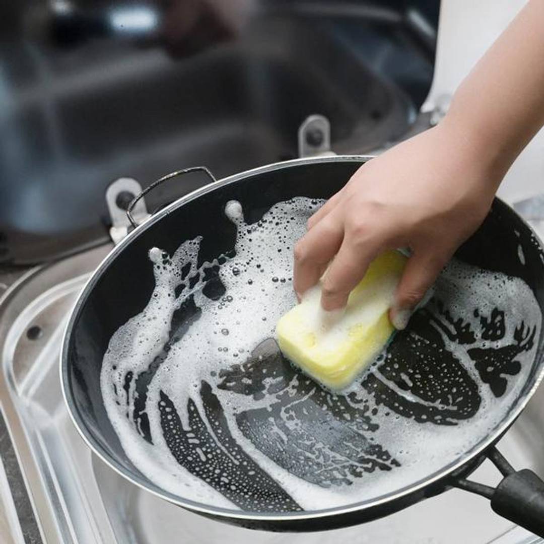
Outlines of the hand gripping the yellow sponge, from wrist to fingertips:
<svg viewBox="0 0 544 544">
<path fill-rule="evenodd" d="M 455 250 L 484 220 L 503 173 L 446 123 L 370 160 L 310 218 L 296 244 L 299 299 L 328 266 L 322 306 L 342 308 L 380 252 L 409 248 L 390 316 L 403 329 Z"/>
</svg>

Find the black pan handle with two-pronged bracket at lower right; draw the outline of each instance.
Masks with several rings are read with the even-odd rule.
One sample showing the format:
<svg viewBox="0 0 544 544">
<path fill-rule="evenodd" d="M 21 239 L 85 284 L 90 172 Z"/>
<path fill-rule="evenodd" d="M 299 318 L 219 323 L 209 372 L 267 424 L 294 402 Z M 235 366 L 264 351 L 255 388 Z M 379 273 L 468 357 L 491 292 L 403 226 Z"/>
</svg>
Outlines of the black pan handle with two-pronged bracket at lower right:
<svg viewBox="0 0 544 544">
<path fill-rule="evenodd" d="M 452 484 L 490 499 L 496 514 L 544 537 L 544 481 L 527 468 L 515 471 L 494 446 L 486 456 L 504 476 L 497 487 L 463 478 L 454 479 Z"/>
</svg>

